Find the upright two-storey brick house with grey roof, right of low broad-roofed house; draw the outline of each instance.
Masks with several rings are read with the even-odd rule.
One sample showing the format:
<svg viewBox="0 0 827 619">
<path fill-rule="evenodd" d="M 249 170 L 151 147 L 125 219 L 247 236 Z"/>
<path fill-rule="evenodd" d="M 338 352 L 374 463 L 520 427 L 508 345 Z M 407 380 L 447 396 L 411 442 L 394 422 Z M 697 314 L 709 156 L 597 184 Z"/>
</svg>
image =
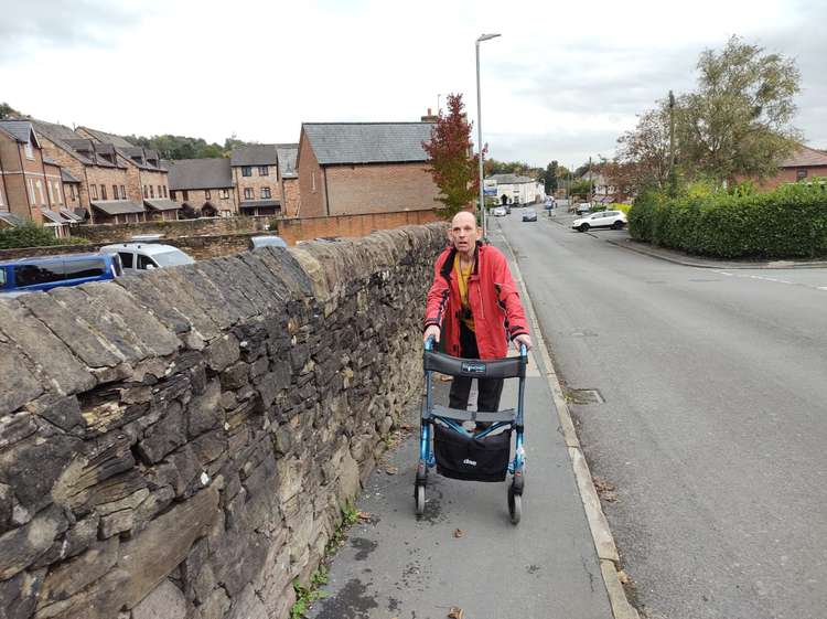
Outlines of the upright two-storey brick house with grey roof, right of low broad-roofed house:
<svg viewBox="0 0 827 619">
<path fill-rule="evenodd" d="M 281 213 L 277 145 L 249 145 L 233 150 L 229 166 L 243 215 Z"/>
</svg>

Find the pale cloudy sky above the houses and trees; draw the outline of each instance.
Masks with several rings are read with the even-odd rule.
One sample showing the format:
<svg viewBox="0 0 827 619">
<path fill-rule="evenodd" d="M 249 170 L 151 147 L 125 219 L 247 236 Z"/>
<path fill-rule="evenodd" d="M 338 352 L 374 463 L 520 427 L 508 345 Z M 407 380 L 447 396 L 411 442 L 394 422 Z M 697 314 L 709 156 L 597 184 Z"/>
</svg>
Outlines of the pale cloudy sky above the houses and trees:
<svg viewBox="0 0 827 619">
<path fill-rule="evenodd" d="M 827 2 L 0 0 L 0 102 L 121 135 L 297 142 L 302 122 L 411 121 L 461 93 L 490 157 L 611 157 L 737 34 L 795 58 L 794 126 L 827 148 Z M 476 141 L 476 140 L 475 140 Z"/>
</svg>

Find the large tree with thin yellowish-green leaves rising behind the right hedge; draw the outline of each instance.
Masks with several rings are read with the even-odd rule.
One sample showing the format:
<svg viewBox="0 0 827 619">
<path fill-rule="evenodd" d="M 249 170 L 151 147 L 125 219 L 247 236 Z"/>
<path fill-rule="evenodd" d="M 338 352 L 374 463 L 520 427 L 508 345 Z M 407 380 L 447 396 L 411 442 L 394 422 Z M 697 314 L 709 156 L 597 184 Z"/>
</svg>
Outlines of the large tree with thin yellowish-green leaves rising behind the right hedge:
<svg viewBox="0 0 827 619">
<path fill-rule="evenodd" d="M 701 53 L 697 66 L 698 89 L 676 109 L 683 162 L 719 182 L 774 174 L 801 140 L 790 126 L 801 90 L 795 61 L 732 36 L 720 53 Z"/>
</svg>

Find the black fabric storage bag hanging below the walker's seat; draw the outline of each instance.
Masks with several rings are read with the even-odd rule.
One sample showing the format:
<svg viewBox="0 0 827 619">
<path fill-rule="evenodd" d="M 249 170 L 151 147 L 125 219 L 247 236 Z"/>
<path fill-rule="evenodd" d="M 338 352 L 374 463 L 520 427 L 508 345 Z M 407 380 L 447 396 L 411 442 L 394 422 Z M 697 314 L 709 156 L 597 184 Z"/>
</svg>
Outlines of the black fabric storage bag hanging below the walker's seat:
<svg viewBox="0 0 827 619">
<path fill-rule="evenodd" d="M 512 430 L 473 438 L 433 424 L 437 471 L 466 481 L 505 481 L 512 447 Z"/>
</svg>

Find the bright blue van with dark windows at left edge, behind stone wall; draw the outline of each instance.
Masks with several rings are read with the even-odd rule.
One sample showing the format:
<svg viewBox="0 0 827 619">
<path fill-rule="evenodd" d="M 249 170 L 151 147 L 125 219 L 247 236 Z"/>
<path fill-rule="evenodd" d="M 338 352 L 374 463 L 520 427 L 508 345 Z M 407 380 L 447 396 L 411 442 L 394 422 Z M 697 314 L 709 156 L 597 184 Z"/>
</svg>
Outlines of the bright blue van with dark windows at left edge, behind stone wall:
<svg viewBox="0 0 827 619">
<path fill-rule="evenodd" d="M 122 275 L 117 255 L 68 254 L 3 260 L 0 263 L 0 295 L 17 297 L 58 286 L 106 281 Z"/>
</svg>

